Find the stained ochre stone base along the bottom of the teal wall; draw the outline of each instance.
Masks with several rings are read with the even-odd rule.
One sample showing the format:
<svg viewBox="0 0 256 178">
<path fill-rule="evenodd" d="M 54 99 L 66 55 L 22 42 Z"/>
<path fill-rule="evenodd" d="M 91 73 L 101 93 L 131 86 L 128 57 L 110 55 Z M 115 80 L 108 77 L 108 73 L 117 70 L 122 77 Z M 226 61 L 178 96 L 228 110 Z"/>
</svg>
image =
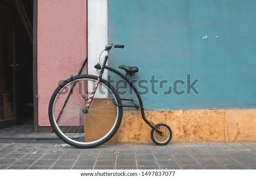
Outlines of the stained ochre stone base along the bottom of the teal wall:
<svg viewBox="0 0 256 178">
<path fill-rule="evenodd" d="M 256 109 L 146 111 L 145 116 L 169 125 L 171 142 L 256 141 Z M 124 111 L 116 141 L 151 143 L 150 131 L 140 111 Z"/>
</svg>

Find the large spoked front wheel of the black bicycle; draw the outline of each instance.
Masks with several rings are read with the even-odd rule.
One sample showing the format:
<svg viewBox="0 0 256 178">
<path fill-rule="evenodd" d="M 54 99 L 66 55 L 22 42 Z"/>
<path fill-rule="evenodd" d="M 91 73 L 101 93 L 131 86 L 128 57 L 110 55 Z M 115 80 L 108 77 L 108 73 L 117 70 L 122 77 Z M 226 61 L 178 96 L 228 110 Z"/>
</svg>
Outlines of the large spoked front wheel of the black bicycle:
<svg viewBox="0 0 256 178">
<path fill-rule="evenodd" d="M 49 121 L 65 143 L 78 148 L 100 146 L 110 140 L 122 121 L 121 99 L 106 80 L 100 80 L 88 110 L 98 77 L 78 75 L 61 83 L 49 102 Z"/>
</svg>

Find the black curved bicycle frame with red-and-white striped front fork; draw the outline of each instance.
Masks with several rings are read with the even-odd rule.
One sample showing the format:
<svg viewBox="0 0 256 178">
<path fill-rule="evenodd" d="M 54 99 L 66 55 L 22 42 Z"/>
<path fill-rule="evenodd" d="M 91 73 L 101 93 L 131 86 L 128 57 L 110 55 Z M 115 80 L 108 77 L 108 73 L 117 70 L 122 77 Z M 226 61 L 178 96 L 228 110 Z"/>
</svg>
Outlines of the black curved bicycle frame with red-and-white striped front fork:
<svg viewBox="0 0 256 178">
<path fill-rule="evenodd" d="M 125 80 L 129 86 L 131 86 L 131 88 L 133 89 L 133 91 L 135 92 L 138 100 L 139 100 L 139 104 L 140 104 L 140 111 L 141 111 L 141 115 L 142 115 L 142 118 L 143 120 L 145 121 L 145 123 L 147 123 L 151 128 L 154 128 L 156 129 L 156 131 L 160 134 L 160 135 L 163 135 L 163 132 L 161 132 L 153 122 L 151 121 L 148 121 L 148 119 L 145 117 L 145 112 L 144 112 L 144 106 L 143 106 L 143 101 L 141 99 L 141 96 L 140 96 L 140 92 L 137 90 L 137 88 L 134 86 L 134 83 L 131 82 L 131 80 L 129 80 L 127 77 L 125 77 L 125 75 L 123 75 L 121 72 L 119 72 L 118 70 L 116 69 L 113 69 L 112 67 L 110 66 L 107 66 L 106 63 L 107 63 L 107 60 L 108 60 L 108 53 L 109 53 L 110 49 L 107 50 L 107 55 L 105 56 L 105 59 L 104 59 L 104 62 L 102 64 L 102 69 L 100 71 L 100 74 L 99 74 L 99 78 L 97 80 L 97 83 L 96 83 L 96 86 L 94 87 L 93 89 L 93 92 L 91 93 L 92 96 L 90 96 L 89 100 L 87 101 L 87 104 L 86 104 L 86 108 L 85 108 L 85 112 L 88 112 L 88 109 L 90 107 L 90 103 L 91 103 L 91 100 L 93 99 L 94 97 L 94 94 L 95 94 L 95 91 L 98 87 L 98 84 L 99 84 L 99 80 L 102 79 L 102 75 L 104 73 L 104 70 L 107 69 L 113 73 L 115 73 L 116 75 L 118 75 L 119 77 L 121 77 L 123 80 Z M 128 99 L 121 99 L 121 100 L 128 100 Z M 115 103 L 114 103 L 115 104 Z M 115 104 L 116 106 L 123 106 L 123 107 L 127 107 L 127 105 L 117 105 Z M 138 108 L 137 108 L 138 109 Z"/>
</svg>

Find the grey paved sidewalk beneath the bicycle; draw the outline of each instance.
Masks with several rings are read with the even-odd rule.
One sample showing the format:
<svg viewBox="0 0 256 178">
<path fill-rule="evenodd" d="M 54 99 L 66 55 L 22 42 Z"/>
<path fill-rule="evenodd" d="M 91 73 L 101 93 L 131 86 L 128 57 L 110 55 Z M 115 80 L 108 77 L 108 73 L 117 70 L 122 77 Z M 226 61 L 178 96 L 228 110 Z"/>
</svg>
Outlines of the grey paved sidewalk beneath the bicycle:
<svg viewBox="0 0 256 178">
<path fill-rule="evenodd" d="M 256 143 L 0 144 L 0 169 L 256 169 Z"/>
</svg>

